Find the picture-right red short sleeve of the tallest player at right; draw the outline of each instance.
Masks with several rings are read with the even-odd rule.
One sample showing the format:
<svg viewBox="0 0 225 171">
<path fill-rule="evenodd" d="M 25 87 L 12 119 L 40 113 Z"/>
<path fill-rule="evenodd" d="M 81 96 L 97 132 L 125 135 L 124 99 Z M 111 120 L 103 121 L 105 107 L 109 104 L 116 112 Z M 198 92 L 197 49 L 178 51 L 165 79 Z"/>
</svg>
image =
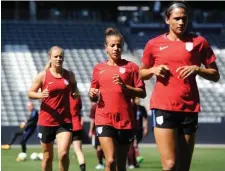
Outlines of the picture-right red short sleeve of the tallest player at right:
<svg viewBox="0 0 225 171">
<path fill-rule="evenodd" d="M 201 62 L 207 66 L 210 63 L 214 62 L 216 60 L 216 56 L 208 43 L 206 39 L 203 38 L 202 40 L 202 46 L 200 49 L 200 55 L 201 55 Z"/>
</svg>

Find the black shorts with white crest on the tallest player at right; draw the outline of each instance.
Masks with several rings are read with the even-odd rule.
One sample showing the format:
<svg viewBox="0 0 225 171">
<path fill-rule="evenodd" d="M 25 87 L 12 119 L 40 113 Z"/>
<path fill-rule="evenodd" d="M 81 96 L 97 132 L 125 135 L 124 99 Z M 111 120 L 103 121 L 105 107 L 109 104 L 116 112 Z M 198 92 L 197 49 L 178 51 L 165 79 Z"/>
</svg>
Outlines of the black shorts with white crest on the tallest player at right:
<svg viewBox="0 0 225 171">
<path fill-rule="evenodd" d="M 195 133 L 198 128 L 197 112 L 174 112 L 160 109 L 152 110 L 153 127 L 178 128 L 184 134 Z"/>
</svg>

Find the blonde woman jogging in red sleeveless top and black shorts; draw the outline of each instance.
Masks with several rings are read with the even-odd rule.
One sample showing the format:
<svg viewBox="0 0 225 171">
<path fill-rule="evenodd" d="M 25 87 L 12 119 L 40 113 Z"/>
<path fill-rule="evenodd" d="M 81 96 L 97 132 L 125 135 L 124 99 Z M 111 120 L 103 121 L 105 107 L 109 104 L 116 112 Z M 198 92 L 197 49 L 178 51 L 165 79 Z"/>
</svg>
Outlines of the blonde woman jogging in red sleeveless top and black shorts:
<svg viewBox="0 0 225 171">
<path fill-rule="evenodd" d="M 71 93 L 76 95 L 76 81 L 73 72 L 62 66 L 64 55 L 61 47 L 53 46 L 48 55 L 50 68 L 36 76 L 28 91 L 28 97 L 42 101 L 38 118 L 38 136 L 43 152 L 42 171 L 52 171 L 55 138 L 59 170 L 68 171 L 72 130 L 69 98 Z M 39 89 L 41 92 L 38 92 Z"/>
</svg>

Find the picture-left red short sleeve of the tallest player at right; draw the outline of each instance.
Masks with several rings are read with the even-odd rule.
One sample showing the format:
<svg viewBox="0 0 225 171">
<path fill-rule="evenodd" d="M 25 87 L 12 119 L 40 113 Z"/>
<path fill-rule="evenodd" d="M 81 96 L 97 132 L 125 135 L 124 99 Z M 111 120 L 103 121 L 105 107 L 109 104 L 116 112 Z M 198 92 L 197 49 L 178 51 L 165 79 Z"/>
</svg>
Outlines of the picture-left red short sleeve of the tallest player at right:
<svg viewBox="0 0 225 171">
<path fill-rule="evenodd" d="M 147 68 L 150 68 L 154 65 L 151 40 L 148 41 L 148 43 L 145 46 L 143 57 L 142 57 L 142 64 L 144 64 L 144 66 Z"/>
</svg>

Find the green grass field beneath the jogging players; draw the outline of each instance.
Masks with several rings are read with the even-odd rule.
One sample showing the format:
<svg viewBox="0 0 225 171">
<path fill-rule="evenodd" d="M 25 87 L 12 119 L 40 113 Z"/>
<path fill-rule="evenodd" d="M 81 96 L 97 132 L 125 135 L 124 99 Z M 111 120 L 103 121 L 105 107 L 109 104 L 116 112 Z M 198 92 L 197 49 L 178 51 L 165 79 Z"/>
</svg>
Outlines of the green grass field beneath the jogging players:
<svg viewBox="0 0 225 171">
<path fill-rule="evenodd" d="M 28 155 L 32 152 L 40 152 L 40 148 L 29 148 Z M 40 171 L 40 161 L 31 161 L 29 158 L 24 162 L 17 162 L 16 157 L 20 148 L 1 151 L 2 171 Z M 137 171 L 161 171 L 159 154 L 155 147 L 140 148 L 141 155 L 145 160 Z M 55 154 L 56 151 L 55 151 Z M 87 171 L 94 171 L 97 164 L 95 149 L 84 147 L 84 154 L 87 163 Z M 57 157 L 54 159 L 53 170 L 57 171 Z M 70 151 L 70 171 L 79 171 L 76 157 Z M 225 148 L 195 148 L 191 171 L 225 171 Z"/>
</svg>

